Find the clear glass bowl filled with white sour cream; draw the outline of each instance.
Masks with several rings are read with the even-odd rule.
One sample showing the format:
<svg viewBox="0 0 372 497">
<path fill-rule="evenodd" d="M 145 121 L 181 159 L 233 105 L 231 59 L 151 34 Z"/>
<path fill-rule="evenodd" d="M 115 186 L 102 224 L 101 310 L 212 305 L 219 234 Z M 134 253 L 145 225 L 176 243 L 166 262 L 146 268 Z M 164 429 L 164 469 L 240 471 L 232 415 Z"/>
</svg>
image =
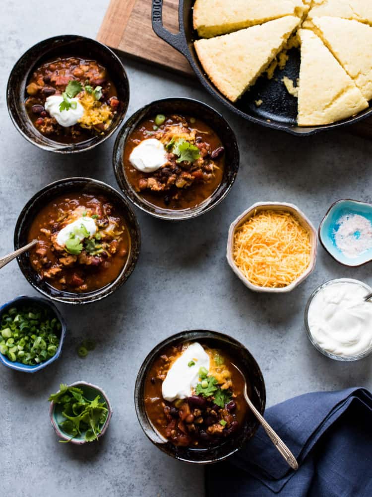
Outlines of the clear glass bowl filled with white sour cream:
<svg viewBox="0 0 372 497">
<path fill-rule="evenodd" d="M 305 327 L 313 346 L 326 357 L 356 361 L 372 352 L 371 287 L 340 278 L 320 285 L 305 309 Z"/>
</svg>

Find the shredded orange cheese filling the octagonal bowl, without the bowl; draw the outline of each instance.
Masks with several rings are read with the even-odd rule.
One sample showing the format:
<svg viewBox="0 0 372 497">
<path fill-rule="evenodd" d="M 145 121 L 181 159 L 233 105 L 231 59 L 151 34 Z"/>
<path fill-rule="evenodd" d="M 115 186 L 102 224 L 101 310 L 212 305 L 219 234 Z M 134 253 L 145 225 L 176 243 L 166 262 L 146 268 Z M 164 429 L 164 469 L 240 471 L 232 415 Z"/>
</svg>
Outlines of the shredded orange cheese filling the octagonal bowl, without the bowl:
<svg viewBox="0 0 372 497">
<path fill-rule="evenodd" d="M 254 211 L 234 235 L 233 256 L 254 285 L 279 288 L 295 281 L 310 264 L 310 235 L 286 211 Z"/>
</svg>

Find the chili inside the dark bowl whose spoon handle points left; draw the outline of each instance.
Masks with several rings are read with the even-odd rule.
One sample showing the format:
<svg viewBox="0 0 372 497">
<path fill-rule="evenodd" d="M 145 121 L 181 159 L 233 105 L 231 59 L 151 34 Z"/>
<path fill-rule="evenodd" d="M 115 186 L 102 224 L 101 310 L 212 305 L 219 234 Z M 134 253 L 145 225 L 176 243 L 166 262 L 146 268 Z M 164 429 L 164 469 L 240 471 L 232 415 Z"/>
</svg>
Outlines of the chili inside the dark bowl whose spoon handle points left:
<svg viewBox="0 0 372 497">
<path fill-rule="evenodd" d="M 91 224 L 94 220 L 93 235 L 80 223 L 84 219 Z M 77 231 L 59 245 L 59 232 L 76 220 Z M 72 293 L 93 291 L 115 280 L 130 248 L 123 215 L 104 196 L 86 193 L 69 193 L 46 205 L 31 225 L 28 240 L 34 239 L 39 243 L 31 248 L 30 261 L 39 277 Z"/>
</svg>

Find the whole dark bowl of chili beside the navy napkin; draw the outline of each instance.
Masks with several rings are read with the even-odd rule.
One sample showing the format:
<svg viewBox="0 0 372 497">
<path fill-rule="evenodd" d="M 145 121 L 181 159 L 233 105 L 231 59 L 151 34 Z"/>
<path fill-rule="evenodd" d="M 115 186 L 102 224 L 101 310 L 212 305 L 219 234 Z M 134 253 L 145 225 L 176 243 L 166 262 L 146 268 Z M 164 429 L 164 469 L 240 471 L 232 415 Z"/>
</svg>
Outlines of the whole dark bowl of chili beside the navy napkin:
<svg viewBox="0 0 372 497">
<path fill-rule="evenodd" d="M 191 395 L 167 394 L 164 380 L 190 344 L 201 345 L 210 357 L 209 369 L 194 358 L 185 368 L 196 368 L 199 383 Z M 192 351 L 194 352 L 194 350 Z M 202 353 L 204 353 L 202 352 Z M 181 357 L 181 361 L 183 360 Z M 196 362 L 196 365 L 195 365 Z M 259 423 L 243 397 L 243 379 L 258 411 L 265 410 L 262 373 L 247 348 L 231 336 L 206 330 L 183 331 L 159 343 L 144 360 L 136 379 L 134 402 L 138 421 L 147 437 L 166 454 L 189 463 L 210 464 L 234 454 L 254 435 Z M 174 378 L 173 378 L 174 379 Z M 172 390 L 172 389 L 171 389 Z M 165 396 L 168 400 L 165 400 Z"/>
</svg>

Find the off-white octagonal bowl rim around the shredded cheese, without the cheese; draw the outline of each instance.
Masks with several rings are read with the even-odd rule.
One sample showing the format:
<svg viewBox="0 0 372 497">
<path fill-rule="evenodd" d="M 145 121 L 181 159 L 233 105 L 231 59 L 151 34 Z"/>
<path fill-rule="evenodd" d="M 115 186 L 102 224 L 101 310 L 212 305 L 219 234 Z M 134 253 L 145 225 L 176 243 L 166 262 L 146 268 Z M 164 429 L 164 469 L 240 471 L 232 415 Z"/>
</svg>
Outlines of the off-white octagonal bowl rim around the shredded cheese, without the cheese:
<svg viewBox="0 0 372 497">
<path fill-rule="evenodd" d="M 266 288 L 262 286 L 253 285 L 253 283 L 251 283 L 238 269 L 238 267 L 234 262 L 233 248 L 234 248 L 235 231 L 255 213 L 264 210 L 273 210 L 273 211 L 284 210 L 290 212 L 298 219 L 301 226 L 303 226 L 306 230 L 308 230 L 310 234 L 311 252 L 310 252 L 310 264 L 308 268 L 295 281 L 292 281 L 292 283 L 282 288 L 269 288 L 269 287 Z M 226 257 L 231 269 L 238 276 L 238 278 L 246 285 L 246 287 L 249 288 L 249 290 L 252 290 L 253 292 L 265 292 L 265 293 L 286 293 L 286 292 L 291 292 L 294 288 L 296 288 L 296 286 L 299 285 L 302 281 L 304 281 L 309 276 L 309 274 L 312 273 L 312 271 L 314 270 L 316 263 L 317 243 L 318 239 L 315 228 L 313 227 L 309 218 L 296 205 L 287 202 L 256 202 L 255 204 L 251 205 L 246 211 L 244 211 L 240 216 L 238 216 L 235 221 L 231 223 L 229 229 L 229 238 L 227 241 Z"/>
</svg>

